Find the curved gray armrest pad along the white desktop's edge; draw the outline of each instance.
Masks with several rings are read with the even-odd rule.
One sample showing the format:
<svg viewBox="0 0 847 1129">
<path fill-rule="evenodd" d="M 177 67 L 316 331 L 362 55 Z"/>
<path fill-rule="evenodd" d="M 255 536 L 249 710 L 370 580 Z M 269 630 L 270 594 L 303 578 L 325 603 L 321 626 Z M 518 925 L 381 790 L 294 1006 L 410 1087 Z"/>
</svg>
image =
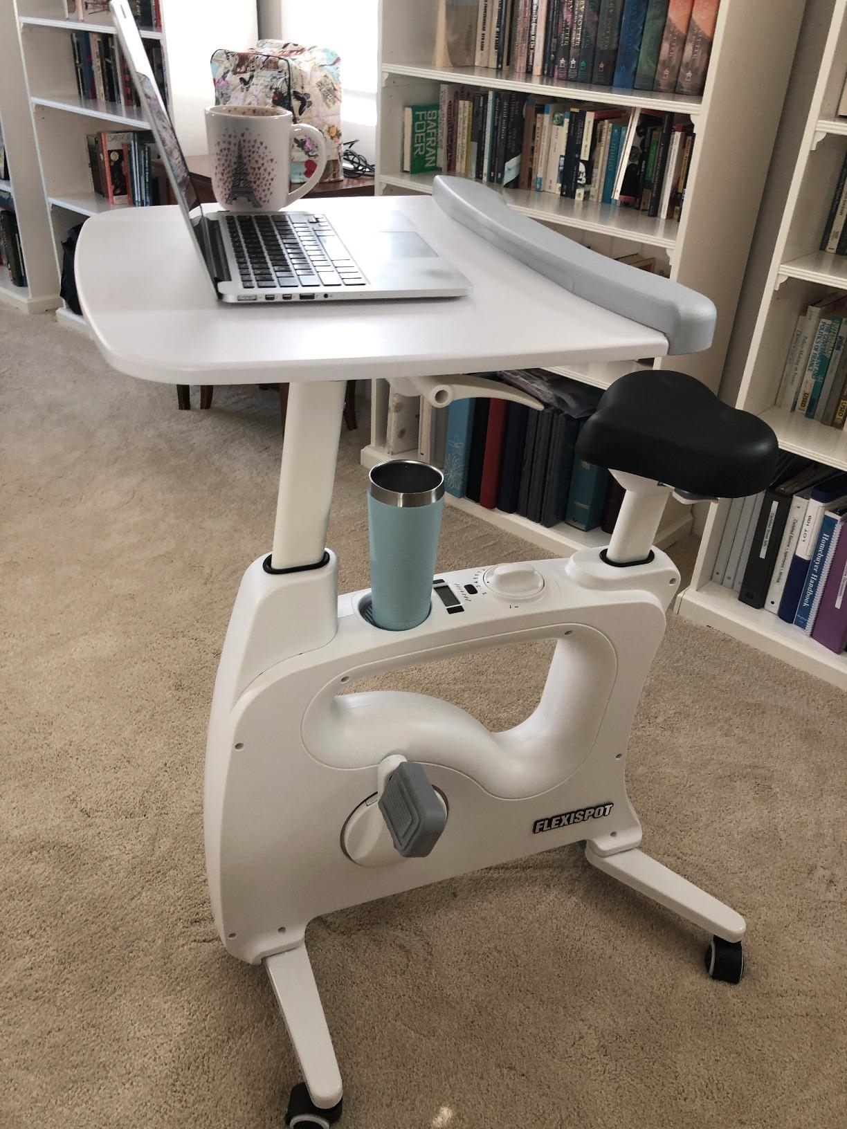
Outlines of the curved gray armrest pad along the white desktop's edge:
<svg viewBox="0 0 847 1129">
<path fill-rule="evenodd" d="M 717 310 L 696 290 L 618 263 L 551 231 L 514 211 L 486 184 L 436 176 L 433 196 L 451 219 L 557 286 L 663 333 L 672 356 L 700 352 L 711 344 Z"/>
</svg>

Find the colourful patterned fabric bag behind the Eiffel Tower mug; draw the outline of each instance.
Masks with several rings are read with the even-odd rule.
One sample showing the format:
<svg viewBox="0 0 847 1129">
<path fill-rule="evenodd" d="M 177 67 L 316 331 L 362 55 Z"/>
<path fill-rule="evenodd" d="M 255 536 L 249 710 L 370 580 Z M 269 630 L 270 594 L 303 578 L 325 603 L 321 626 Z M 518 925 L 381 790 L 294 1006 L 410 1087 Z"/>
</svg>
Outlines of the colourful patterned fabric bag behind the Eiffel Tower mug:
<svg viewBox="0 0 847 1129">
<path fill-rule="evenodd" d="M 224 106 L 290 110 L 295 121 L 315 125 L 326 139 L 326 168 L 321 181 L 342 181 L 340 62 L 334 51 L 281 40 L 260 40 L 251 51 L 216 51 L 211 56 L 215 100 Z M 292 184 L 311 176 L 315 157 L 313 141 L 294 141 Z"/>
</svg>

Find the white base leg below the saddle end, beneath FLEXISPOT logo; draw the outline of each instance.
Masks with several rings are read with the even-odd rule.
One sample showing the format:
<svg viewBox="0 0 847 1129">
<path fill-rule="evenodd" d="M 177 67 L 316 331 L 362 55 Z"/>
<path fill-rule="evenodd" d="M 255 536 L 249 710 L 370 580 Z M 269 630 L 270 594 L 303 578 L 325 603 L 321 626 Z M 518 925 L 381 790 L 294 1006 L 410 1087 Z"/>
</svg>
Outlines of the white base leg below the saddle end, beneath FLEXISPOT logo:
<svg viewBox="0 0 847 1129">
<path fill-rule="evenodd" d="M 585 857 L 599 870 L 611 874 L 626 886 L 646 894 L 709 934 L 716 934 L 724 940 L 741 940 L 744 936 L 746 925 L 740 913 L 640 850 L 603 856 L 595 854 L 591 843 L 586 843 Z"/>
</svg>

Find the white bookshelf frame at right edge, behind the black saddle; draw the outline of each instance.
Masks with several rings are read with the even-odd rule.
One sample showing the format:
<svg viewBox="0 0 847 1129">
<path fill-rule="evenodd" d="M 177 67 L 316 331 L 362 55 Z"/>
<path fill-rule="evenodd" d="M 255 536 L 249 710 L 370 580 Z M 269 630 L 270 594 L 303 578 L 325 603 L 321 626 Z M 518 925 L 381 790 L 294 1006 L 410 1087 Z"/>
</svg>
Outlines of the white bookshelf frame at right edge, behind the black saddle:
<svg viewBox="0 0 847 1129">
<path fill-rule="evenodd" d="M 847 119 L 836 116 L 846 73 L 847 0 L 807 0 L 722 390 L 765 419 L 783 450 L 836 470 L 847 470 L 847 434 L 788 412 L 776 399 L 797 316 L 828 290 L 847 292 L 847 259 L 818 250 L 847 152 Z M 727 508 L 714 507 L 678 610 L 847 689 L 847 655 L 745 606 L 711 580 Z"/>
</svg>

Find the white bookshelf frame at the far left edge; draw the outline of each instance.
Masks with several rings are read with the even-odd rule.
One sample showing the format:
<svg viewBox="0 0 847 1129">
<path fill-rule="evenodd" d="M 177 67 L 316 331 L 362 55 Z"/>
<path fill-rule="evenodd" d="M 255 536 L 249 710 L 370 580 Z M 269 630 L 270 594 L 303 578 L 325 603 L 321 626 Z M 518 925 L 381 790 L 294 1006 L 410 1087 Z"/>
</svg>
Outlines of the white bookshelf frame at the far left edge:
<svg viewBox="0 0 847 1129">
<path fill-rule="evenodd" d="M 0 266 L 0 303 L 24 313 L 44 313 L 59 305 L 59 277 L 10 0 L 0 2 L 0 133 L 11 172 L 10 180 L 0 181 L 0 198 L 15 209 L 27 275 L 25 287 L 15 286 Z"/>
</svg>

